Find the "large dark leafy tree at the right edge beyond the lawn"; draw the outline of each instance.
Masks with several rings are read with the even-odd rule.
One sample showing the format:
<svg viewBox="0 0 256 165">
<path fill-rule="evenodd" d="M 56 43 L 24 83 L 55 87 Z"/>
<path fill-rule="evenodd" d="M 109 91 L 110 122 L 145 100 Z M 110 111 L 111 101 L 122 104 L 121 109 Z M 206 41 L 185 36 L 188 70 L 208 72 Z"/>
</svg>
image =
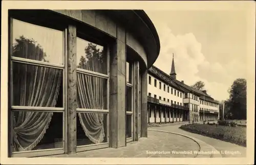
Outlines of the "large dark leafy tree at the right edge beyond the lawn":
<svg viewBox="0 0 256 165">
<path fill-rule="evenodd" d="M 233 81 L 228 90 L 227 106 L 231 119 L 246 119 L 246 79 L 238 78 Z"/>
</svg>

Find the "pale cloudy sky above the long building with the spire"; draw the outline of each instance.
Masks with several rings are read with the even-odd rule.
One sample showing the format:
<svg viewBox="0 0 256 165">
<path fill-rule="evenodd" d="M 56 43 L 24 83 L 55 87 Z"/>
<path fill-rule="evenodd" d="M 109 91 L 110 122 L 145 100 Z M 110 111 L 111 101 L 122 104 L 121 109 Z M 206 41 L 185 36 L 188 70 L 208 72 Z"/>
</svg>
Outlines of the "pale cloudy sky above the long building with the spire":
<svg viewBox="0 0 256 165">
<path fill-rule="evenodd" d="M 173 60 L 178 80 L 193 85 L 202 80 L 216 100 L 246 77 L 246 13 L 234 10 L 145 10 L 160 39 L 154 66 L 170 73 Z M 165 65 L 163 65 L 165 64 Z"/>
</svg>

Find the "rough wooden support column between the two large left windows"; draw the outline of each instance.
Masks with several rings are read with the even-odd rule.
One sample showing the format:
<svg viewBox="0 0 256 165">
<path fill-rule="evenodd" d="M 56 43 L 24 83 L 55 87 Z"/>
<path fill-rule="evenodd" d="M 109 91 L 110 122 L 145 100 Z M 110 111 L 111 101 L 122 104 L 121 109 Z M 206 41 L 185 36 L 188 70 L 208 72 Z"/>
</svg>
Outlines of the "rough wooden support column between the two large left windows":
<svg viewBox="0 0 256 165">
<path fill-rule="evenodd" d="M 66 112 L 66 153 L 76 153 L 76 27 L 68 26 L 68 59 L 67 59 L 67 112 Z"/>
</svg>

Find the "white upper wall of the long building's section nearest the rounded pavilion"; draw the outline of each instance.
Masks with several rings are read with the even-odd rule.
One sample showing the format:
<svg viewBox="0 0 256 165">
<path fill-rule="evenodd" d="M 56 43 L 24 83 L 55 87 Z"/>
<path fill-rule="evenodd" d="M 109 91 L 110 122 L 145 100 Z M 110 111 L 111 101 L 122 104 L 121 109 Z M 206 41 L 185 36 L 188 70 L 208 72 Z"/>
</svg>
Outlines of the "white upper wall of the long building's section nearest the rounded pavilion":
<svg viewBox="0 0 256 165">
<path fill-rule="evenodd" d="M 149 77 L 151 77 L 151 85 L 149 84 Z M 177 90 L 174 89 L 173 87 L 167 86 L 163 81 L 159 80 L 158 78 L 154 77 L 151 74 L 148 74 L 147 76 L 148 78 L 148 85 L 147 85 L 147 96 L 148 93 L 151 93 L 151 97 L 154 97 L 154 95 L 157 95 L 157 99 L 159 99 L 159 96 L 161 96 L 161 100 L 164 100 L 167 102 L 167 100 L 169 99 L 169 102 L 171 102 L 171 100 L 173 100 L 173 103 L 176 101 L 176 104 L 179 105 L 180 103 L 182 103 L 183 105 L 183 96 L 184 94 Z M 157 86 L 155 87 L 155 79 L 157 80 Z M 161 82 L 161 89 L 159 89 L 159 82 Z M 164 85 L 165 85 L 165 91 L 164 91 Z M 169 87 L 169 93 L 167 91 L 167 88 Z M 173 94 L 172 94 L 172 89 L 173 89 Z M 176 90 L 176 96 L 175 96 L 175 91 Z M 179 97 L 178 97 L 178 92 L 179 92 Z M 180 97 L 180 94 L 182 93 L 182 96 Z"/>
</svg>

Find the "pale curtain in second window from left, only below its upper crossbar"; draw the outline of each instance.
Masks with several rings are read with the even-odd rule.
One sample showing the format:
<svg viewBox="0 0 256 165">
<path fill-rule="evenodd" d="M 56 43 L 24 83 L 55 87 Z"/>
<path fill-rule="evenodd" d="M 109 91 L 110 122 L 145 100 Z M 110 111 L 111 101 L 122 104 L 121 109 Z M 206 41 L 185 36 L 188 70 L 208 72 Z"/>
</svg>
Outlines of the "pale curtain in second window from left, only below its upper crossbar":
<svg viewBox="0 0 256 165">
<path fill-rule="evenodd" d="M 103 109 L 102 78 L 77 73 L 77 104 L 79 108 Z M 104 116 L 99 113 L 78 113 L 84 133 L 95 144 L 104 140 Z"/>
</svg>

